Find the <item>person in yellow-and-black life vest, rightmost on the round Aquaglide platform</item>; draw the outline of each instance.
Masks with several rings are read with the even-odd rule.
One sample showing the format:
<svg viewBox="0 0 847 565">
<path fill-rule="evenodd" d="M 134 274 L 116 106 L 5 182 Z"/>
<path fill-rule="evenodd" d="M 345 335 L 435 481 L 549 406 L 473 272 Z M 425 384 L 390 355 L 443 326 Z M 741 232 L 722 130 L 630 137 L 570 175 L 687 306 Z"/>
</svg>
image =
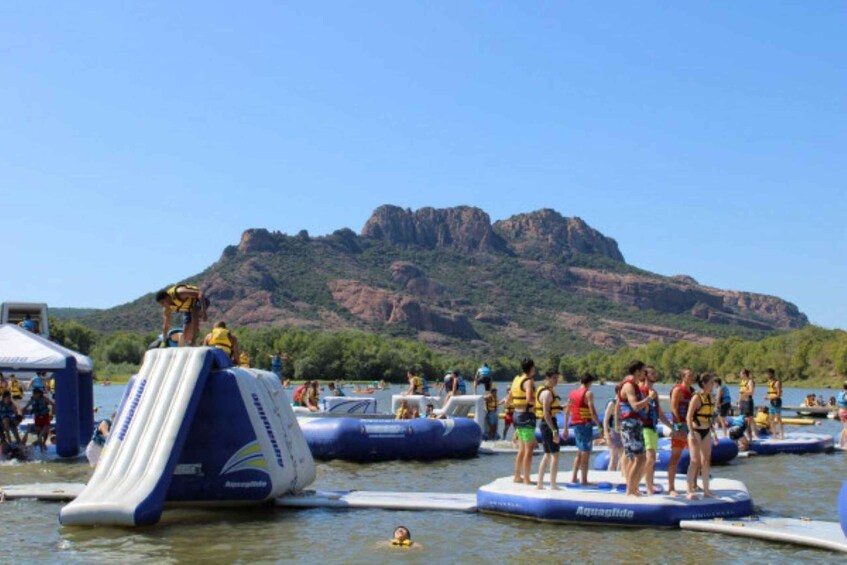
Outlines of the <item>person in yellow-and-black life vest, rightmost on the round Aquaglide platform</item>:
<svg viewBox="0 0 847 565">
<path fill-rule="evenodd" d="M 710 373 L 700 375 L 698 384 L 702 391 L 696 393 L 691 398 L 691 404 L 688 406 L 688 452 L 691 454 L 691 462 L 688 464 L 688 493 L 686 498 L 692 500 L 695 498 L 695 490 L 697 489 L 697 475 L 700 475 L 703 481 L 703 497 L 714 498 L 714 495 L 709 490 L 709 470 L 712 462 L 712 442 L 717 443 L 718 439 L 714 436 L 712 425 L 717 407 L 715 406 L 715 397 L 712 396 L 712 389 L 715 386 L 715 377 Z"/>
</svg>

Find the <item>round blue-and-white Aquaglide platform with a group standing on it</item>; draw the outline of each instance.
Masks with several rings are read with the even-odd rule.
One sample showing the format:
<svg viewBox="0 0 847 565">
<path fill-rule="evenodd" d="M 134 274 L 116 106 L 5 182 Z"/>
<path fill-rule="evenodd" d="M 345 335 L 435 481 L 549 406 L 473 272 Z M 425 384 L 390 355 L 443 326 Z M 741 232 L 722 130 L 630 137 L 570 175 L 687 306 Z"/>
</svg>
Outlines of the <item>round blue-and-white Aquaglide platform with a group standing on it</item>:
<svg viewBox="0 0 847 565">
<path fill-rule="evenodd" d="M 753 513 L 753 501 L 740 481 L 712 479 L 712 492 L 718 498 L 687 500 L 683 496 L 627 496 L 620 473 L 591 471 L 588 480 L 596 486 L 560 483 L 560 490 L 538 490 L 534 484 L 517 484 L 512 477 L 504 477 L 480 487 L 477 508 L 539 521 L 664 528 L 676 528 L 681 520 L 739 518 Z M 667 492 L 664 473 L 656 476 L 655 484 Z"/>
</svg>

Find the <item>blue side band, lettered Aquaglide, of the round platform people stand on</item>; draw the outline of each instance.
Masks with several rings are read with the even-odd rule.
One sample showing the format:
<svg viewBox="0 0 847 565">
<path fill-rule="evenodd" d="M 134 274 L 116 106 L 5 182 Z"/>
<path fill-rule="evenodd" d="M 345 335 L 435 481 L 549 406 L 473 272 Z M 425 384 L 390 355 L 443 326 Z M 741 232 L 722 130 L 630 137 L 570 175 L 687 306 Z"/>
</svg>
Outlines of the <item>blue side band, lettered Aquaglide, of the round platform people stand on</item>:
<svg viewBox="0 0 847 565">
<path fill-rule="evenodd" d="M 664 528 L 678 527 L 681 520 L 740 518 L 753 513 L 753 501 L 750 498 L 722 500 L 709 505 L 652 505 L 627 504 L 626 496 L 621 494 L 621 501 L 613 504 L 587 502 L 585 500 L 536 498 L 480 489 L 477 491 L 476 503 L 477 508 L 482 512 L 524 516 L 536 520 Z"/>
</svg>

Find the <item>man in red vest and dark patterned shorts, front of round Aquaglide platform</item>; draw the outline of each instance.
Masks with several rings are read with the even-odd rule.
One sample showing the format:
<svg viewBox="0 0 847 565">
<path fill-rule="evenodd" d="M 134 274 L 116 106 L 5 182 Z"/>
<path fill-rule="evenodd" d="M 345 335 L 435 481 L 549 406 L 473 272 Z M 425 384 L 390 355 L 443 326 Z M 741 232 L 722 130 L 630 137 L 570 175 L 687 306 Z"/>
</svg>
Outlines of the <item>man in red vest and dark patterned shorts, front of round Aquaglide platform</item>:
<svg viewBox="0 0 847 565">
<path fill-rule="evenodd" d="M 640 385 L 646 378 L 646 365 L 642 361 L 633 361 L 629 365 L 628 374 L 621 381 L 621 391 L 618 403 L 621 409 L 621 435 L 626 459 L 623 471 L 626 478 L 626 494 L 641 496 L 638 484 L 644 474 L 646 455 L 644 453 L 644 421 L 647 418 L 647 408 L 652 396 L 658 396 L 653 391 L 650 396 L 641 393 Z"/>
</svg>

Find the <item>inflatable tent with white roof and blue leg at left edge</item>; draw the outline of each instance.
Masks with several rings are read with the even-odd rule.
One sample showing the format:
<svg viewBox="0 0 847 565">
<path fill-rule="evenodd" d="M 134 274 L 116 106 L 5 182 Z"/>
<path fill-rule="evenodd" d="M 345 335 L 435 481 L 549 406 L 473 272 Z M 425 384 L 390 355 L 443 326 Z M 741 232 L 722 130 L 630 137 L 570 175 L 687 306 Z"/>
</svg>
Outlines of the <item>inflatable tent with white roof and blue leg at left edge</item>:
<svg viewBox="0 0 847 565">
<path fill-rule="evenodd" d="M 40 334 L 0 325 L 0 372 L 36 371 L 52 373 L 56 383 L 56 453 L 75 457 L 94 430 L 94 364 Z"/>
</svg>

